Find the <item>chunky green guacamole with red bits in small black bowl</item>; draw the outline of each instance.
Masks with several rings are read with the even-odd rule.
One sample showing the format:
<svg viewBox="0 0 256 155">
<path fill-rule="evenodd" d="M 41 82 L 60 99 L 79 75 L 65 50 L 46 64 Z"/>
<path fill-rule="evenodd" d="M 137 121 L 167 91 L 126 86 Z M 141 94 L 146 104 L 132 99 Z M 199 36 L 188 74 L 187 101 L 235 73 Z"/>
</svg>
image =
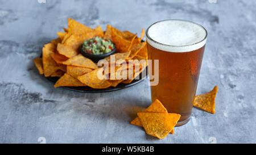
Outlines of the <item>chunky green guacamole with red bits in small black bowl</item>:
<svg viewBox="0 0 256 155">
<path fill-rule="evenodd" d="M 85 40 L 82 44 L 82 51 L 91 55 L 102 55 L 111 52 L 115 45 L 111 40 L 103 39 L 102 37 L 94 37 L 93 39 Z"/>
</svg>

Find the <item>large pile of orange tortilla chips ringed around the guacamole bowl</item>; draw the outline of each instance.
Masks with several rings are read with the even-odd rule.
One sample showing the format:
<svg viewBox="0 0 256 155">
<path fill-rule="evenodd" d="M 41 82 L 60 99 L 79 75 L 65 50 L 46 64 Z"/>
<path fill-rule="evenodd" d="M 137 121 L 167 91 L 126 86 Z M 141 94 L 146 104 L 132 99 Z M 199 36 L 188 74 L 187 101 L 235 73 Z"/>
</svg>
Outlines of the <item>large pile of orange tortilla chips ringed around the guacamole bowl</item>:
<svg viewBox="0 0 256 155">
<path fill-rule="evenodd" d="M 40 74 L 44 74 L 45 77 L 60 77 L 54 87 L 89 86 L 94 89 L 115 87 L 121 82 L 132 82 L 147 66 L 146 42 L 141 42 L 144 29 L 141 37 L 137 37 L 137 34 L 119 31 L 110 25 L 104 32 L 100 26 L 94 29 L 89 28 L 69 18 L 68 28 L 64 28 L 64 32 L 57 32 L 57 35 L 59 36 L 57 39 L 44 45 L 42 58 L 34 59 Z M 82 43 L 96 36 L 110 39 L 115 44 L 115 73 L 112 75 L 108 67 L 97 66 L 92 60 L 79 53 Z M 105 60 L 110 62 L 110 57 L 106 57 Z M 128 64 L 129 60 L 146 61 L 143 64 L 124 65 Z M 123 72 L 127 73 L 126 78 L 113 76 L 116 73 L 122 75 Z M 109 78 L 98 78 L 99 73 Z"/>
</svg>

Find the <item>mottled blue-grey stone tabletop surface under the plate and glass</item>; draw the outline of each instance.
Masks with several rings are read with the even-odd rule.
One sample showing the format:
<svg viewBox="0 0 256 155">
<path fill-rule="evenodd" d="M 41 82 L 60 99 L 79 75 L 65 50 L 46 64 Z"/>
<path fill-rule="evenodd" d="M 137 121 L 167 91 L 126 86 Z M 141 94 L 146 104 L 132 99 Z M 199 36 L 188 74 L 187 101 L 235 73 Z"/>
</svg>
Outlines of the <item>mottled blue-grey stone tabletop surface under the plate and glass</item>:
<svg viewBox="0 0 256 155">
<path fill-rule="evenodd" d="M 0 143 L 256 143 L 255 1 L 0 3 Z M 218 85 L 216 114 L 194 109 L 188 124 L 158 140 L 129 124 L 151 103 L 147 81 L 102 94 L 53 89 L 32 59 L 68 17 L 139 35 L 163 19 L 202 24 L 209 37 L 197 94 Z"/>
</svg>

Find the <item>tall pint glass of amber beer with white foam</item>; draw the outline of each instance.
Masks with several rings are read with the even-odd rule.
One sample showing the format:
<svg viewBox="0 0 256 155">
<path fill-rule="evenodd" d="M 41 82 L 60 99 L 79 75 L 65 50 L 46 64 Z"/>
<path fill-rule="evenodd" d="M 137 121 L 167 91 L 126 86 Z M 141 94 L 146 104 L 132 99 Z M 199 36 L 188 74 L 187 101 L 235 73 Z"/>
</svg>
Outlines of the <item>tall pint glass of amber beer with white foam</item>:
<svg viewBox="0 0 256 155">
<path fill-rule="evenodd" d="M 151 98 L 159 99 L 168 113 L 180 114 L 176 126 L 183 125 L 191 118 L 207 30 L 186 20 L 163 20 L 147 28 L 146 40 L 151 76 L 159 74 L 158 85 L 151 85 Z"/>
</svg>

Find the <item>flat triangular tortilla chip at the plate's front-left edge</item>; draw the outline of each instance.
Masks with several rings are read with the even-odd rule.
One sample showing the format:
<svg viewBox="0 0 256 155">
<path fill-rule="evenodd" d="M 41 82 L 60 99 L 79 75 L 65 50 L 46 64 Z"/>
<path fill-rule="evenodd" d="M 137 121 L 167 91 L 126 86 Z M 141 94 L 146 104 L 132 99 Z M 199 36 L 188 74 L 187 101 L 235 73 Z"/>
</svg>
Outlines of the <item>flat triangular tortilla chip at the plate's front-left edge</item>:
<svg viewBox="0 0 256 155">
<path fill-rule="evenodd" d="M 65 73 L 64 76 L 60 77 L 58 81 L 55 83 L 54 87 L 61 87 L 61 86 L 86 86 L 84 83 L 81 83 L 78 79 L 69 76 L 69 74 Z"/>
</svg>

